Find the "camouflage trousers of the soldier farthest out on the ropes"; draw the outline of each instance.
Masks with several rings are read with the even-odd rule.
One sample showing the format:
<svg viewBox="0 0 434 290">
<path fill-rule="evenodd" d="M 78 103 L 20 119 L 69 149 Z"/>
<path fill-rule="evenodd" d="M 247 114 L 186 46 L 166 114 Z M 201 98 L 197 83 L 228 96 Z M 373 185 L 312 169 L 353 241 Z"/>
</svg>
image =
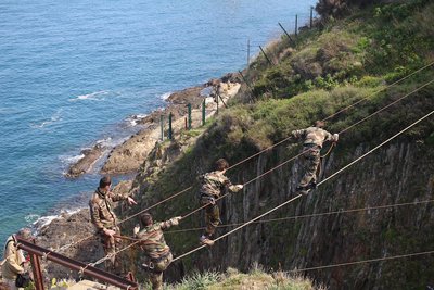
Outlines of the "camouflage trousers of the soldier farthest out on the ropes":
<svg viewBox="0 0 434 290">
<path fill-rule="evenodd" d="M 321 162 L 321 148 L 318 146 L 305 146 L 303 147 L 302 155 L 302 167 L 304 175 L 299 181 L 299 187 L 306 187 L 311 181 L 317 181 L 317 171 Z"/>
</svg>

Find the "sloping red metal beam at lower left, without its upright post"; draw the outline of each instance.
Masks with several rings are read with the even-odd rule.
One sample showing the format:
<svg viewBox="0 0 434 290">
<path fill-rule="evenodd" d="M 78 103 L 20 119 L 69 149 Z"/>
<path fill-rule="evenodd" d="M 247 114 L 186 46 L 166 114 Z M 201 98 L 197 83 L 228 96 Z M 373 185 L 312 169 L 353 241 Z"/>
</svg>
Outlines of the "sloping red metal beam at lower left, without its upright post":
<svg viewBox="0 0 434 290">
<path fill-rule="evenodd" d="M 129 290 L 135 290 L 138 289 L 138 283 L 124 279 L 122 277 L 118 277 L 114 274 L 111 274 L 108 272 L 92 267 L 90 265 L 87 265 L 82 262 L 73 260 L 71 257 L 61 255 L 56 252 L 52 252 L 48 249 L 44 249 L 42 247 L 36 245 L 27 240 L 24 240 L 22 238 L 17 238 L 18 241 L 18 249 L 22 249 L 30 254 L 38 255 L 38 256 L 43 256 L 47 257 L 47 260 L 52 261 L 56 264 L 60 264 L 62 266 L 65 266 L 67 268 L 82 272 L 84 275 L 88 275 L 90 277 L 93 277 L 98 279 L 99 281 L 104 281 L 110 285 L 119 287 L 122 289 L 129 289 Z M 43 286 L 42 286 L 43 287 Z M 38 290 L 43 290 L 38 289 Z"/>
</svg>

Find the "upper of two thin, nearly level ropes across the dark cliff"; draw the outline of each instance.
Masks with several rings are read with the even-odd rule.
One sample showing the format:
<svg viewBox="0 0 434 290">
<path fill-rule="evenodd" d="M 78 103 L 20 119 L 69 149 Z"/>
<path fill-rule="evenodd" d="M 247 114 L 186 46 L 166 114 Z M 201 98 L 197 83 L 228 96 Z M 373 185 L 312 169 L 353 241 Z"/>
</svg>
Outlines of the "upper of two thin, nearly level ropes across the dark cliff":
<svg viewBox="0 0 434 290">
<path fill-rule="evenodd" d="M 369 206 L 369 207 L 361 207 L 361 209 L 352 209 L 352 210 L 339 210 L 333 212 L 326 212 L 326 213 L 317 213 L 317 214 L 305 214 L 305 215 L 294 215 L 294 216 L 286 216 L 286 217 L 279 217 L 279 218 L 269 218 L 257 220 L 253 224 L 265 224 L 265 223 L 273 223 L 273 222 L 283 222 L 290 219 L 298 219 L 298 218 L 308 218 L 308 217 L 318 217 L 318 216 L 326 216 L 326 215 L 334 215 L 334 214 L 344 214 L 344 213 L 355 213 L 355 212 L 362 212 L 362 211 L 373 211 L 373 210 L 383 210 L 390 207 L 398 207 L 398 206 L 406 206 L 406 205 L 418 205 L 434 202 L 434 200 L 424 200 L 424 201 L 414 201 L 414 202 L 405 202 L 405 203 L 395 203 L 395 204 L 387 204 L 387 205 L 379 205 L 379 206 Z M 240 226 L 243 223 L 234 223 L 234 224 L 227 224 L 217 226 L 217 228 L 226 228 L 226 227 L 233 227 Z M 177 232 L 184 232 L 184 231 L 195 231 L 202 230 L 206 227 L 196 227 L 196 228 L 187 228 L 187 229 L 176 229 L 176 230 L 168 230 L 165 234 L 177 234 Z"/>
</svg>

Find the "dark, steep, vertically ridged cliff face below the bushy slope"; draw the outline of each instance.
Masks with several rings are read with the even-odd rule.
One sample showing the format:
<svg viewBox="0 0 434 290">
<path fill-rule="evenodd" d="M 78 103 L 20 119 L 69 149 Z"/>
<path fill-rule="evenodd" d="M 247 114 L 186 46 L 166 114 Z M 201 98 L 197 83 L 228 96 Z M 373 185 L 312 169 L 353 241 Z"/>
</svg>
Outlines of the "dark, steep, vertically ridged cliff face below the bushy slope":
<svg viewBox="0 0 434 290">
<path fill-rule="evenodd" d="M 324 162 L 323 176 L 331 175 L 370 149 L 359 146 L 344 152 L 345 143 L 339 147 Z M 387 144 L 308 197 L 264 219 L 433 199 L 432 149 L 422 141 L 401 140 Z M 245 182 L 290 156 L 286 149 L 280 148 L 244 166 L 232 179 Z M 298 162 L 290 163 L 251 184 L 244 193 L 230 196 L 222 201 L 221 219 L 225 224 L 246 222 L 286 201 L 292 197 L 291 189 L 299 174 Z M 191 223 L 195 224 L 197 218 Z M 190 222 L 186 223 L 191 226 Z M 194 265 L 200 268 L 232 266 L 247 269 L 253 262 L 258 262 L 275 268 L 281 265 L 290 270 L 431 251 L 433 225 L 433 203 L 253 224 L 218 241 L 210 250 L 201 250 L 187 257 L 183 263 L 187 268 Z M 220 228 L 219 232 L 229 229 Z M 194 237 L 195 234 L 178 235 Z M 184 251 L 184 247 L 179 244 L 174 249 L 177 253 Z M 425 287 L 434 283 L 434 269 L 430 266 L 433 261 L 434 256 L 423 255 L 311 270 L 307 276 L 331 289 Z"/>
</svg>

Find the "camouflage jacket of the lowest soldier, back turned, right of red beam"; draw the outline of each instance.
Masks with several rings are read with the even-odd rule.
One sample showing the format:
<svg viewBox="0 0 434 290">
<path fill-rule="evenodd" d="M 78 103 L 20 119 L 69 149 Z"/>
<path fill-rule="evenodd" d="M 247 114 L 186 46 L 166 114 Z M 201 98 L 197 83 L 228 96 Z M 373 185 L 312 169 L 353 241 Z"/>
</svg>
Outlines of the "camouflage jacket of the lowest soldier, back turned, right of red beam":
<svg viewBox="0 0 434 290">
<path fill-rule="evenodd" d="M 136 234 L 136 238 L 142 240 L 139 245 L 145 255 L 151 259 L 158 259 L 170 252 L 170 248 L 164 239 L 163 230 L 174 225 L 173 219 L 154 223 Z"/>
</svg>

